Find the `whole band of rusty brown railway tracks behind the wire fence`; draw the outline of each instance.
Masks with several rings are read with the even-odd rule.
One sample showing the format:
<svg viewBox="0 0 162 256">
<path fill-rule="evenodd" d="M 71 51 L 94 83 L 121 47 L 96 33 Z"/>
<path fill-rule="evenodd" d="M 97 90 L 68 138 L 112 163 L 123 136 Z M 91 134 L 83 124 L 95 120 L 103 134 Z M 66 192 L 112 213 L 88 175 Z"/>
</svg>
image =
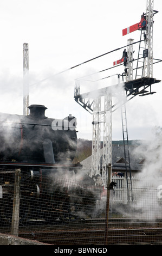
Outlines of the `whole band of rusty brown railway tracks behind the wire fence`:
<svg viewBox="0 0 162 256">
<path fill-rule="evenodd" d="M 35 239 L 51 245 L 161 245 L 162 220 L 146 222 L 141 220 L 84 220 L 77 223 L 45 225 L 42 228 L 29 225 L 20 229 L 20 236 Z M 106 239 L 107 235 L 107 239 Z"/>
</svg>

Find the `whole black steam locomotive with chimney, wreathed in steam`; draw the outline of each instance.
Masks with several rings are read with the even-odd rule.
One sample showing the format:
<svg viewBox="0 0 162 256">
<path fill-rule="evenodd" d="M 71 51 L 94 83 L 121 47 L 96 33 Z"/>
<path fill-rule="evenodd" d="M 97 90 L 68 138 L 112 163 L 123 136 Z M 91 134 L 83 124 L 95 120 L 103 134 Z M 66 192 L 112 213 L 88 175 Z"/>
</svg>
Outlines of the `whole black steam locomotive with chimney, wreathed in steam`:
<svg viewBox="0 0 162 256">
<path fill-rule="evenodd" d="M 81 164 L 73 164 L 77 148 L 76 118 L 72 115 L 63 120 L 47 118 L 47 108 L 43 105 L 31 105 L 29 109 L 30 114 L 25 116 L 0 114 L 0 221 L 11 220 L 18 168 L 21 220 L 69 218 L 87 204 L 92 210 L 96 194 L 87 192 L 79 180 L 77 186 L 65 185 L 66 176 L 75 176 L 76 180 L 82 168 Z M 88 175 L 87 180 L 90 186 L 94 185 Z"/>
</svg>

